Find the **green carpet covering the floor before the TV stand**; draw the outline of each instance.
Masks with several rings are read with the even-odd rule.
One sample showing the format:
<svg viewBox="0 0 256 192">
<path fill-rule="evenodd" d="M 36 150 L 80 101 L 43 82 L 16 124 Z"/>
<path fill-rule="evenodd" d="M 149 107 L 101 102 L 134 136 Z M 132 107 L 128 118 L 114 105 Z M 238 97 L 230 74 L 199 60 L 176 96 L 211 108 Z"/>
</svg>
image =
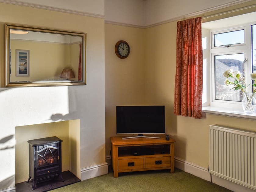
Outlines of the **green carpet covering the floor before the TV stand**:
<svg viewBox="0 0 256 192">
<path fill-rule="evenodd" d="M 80 192 L 80 191 L 230 191 L 199 177 L 175 169 L 171 174 L 168 170 L 143 171 L 119 173 L 118 178 L 113 172 L 68 185 L 54 192 Z"/>
</svg>

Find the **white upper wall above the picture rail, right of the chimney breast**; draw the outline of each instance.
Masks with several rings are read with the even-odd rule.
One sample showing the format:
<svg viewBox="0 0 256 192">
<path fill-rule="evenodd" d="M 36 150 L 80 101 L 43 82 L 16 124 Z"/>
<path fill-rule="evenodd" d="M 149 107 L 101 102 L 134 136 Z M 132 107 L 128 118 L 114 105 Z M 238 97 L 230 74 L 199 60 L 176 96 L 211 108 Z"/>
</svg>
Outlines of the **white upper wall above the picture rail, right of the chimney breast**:
<svg viewBox="0 0 256 192">
<path fill-rule="evenodd" d="M 147 27 L 237 3 L 241 0 L 105 0 L 105 21 Z"/>
</svg>

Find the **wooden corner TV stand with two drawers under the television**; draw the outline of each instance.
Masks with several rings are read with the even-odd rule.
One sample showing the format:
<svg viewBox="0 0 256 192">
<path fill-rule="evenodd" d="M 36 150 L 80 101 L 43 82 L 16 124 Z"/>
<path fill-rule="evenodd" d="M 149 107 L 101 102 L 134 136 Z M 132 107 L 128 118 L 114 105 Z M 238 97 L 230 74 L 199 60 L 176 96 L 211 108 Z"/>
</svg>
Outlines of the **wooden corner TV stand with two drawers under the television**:
<svg viewBox="0 0 256 192">
<path fill-rule="evenodd" d="M 161 139 L 110 137 L 114 177 L 118 177 L 120 172 L 158 169 L 170 169 L 170 172 L 174 173 L 175 140 L 167 141 L 165 135 L 158 137 Z M 134 151 L 140 151 L 142 152 L 140 154 L 143 154 L 144 149 L 154 151 L 154 155 L 133 155 Z"/>
</svg>

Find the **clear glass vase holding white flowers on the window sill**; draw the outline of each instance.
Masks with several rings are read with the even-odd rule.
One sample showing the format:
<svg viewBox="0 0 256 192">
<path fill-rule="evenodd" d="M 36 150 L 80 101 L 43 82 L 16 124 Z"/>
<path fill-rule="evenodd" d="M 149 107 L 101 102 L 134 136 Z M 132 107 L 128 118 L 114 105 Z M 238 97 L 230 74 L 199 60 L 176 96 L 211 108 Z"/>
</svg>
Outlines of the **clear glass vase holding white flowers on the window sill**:
<svg viewBox="0 0 256 192">
<path fill-rule="evenodd" d="M 244 93 L 242 108 L 245 113 L 254 113 L 256 110 L 255 93 Z"/>
</svg>

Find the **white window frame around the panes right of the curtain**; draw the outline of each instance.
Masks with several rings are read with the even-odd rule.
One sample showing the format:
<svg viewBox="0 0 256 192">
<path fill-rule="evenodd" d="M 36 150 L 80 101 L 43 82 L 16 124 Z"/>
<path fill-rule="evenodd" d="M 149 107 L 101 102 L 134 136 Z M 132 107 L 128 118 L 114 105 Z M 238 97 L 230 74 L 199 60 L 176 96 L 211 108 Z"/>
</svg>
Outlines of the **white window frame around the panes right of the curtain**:
<svg viewBox="0 0 256 192">
<path fill-rule="evenodd" d="M 214 56 L 215 55 L 226 55 L 226 54 L 237 54 L 244 53 L 247 62 L 244 63 L 244 76 L 246 84 L 251 83 L 250 73 L 252 73 L 252 61 L 251 61 L 251 25 L 256 24 L 256 22 L 245 23 L 240 26 L 233 27 L 225 27 L 219 29 L 210 30 L 210 105 L 213 107 L 219 108 L 232 108 L 233 110 L 241 110 L 241 102 L 240 101 L 225 101 L 225 100 L 217 100 L 215 99 L 215 66 L 214 66 Z M 225 46 L 216 46 L 214 47 L 214 34 L 231 32 L 236 30 L 244 30 L 244 43 L 239 44 L 231 44 L 230 47 Z M 255 38 L 255 37 L 254 37 Z M 230 86 L 230 88 L 232 88 Z M 248 88 L 248 92 L 251 92 L 251 88 Z"/>
</svg>

